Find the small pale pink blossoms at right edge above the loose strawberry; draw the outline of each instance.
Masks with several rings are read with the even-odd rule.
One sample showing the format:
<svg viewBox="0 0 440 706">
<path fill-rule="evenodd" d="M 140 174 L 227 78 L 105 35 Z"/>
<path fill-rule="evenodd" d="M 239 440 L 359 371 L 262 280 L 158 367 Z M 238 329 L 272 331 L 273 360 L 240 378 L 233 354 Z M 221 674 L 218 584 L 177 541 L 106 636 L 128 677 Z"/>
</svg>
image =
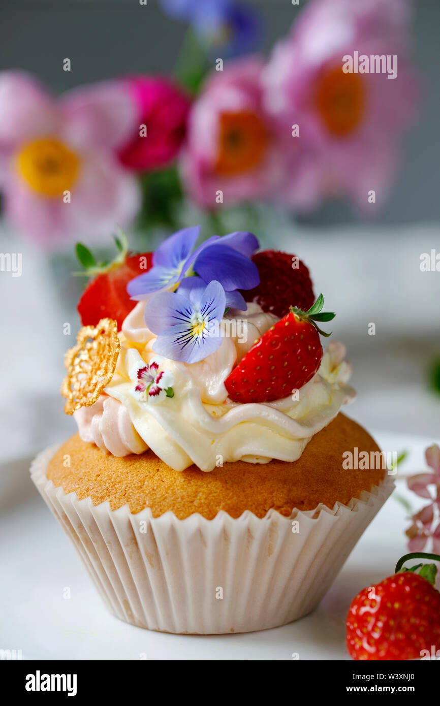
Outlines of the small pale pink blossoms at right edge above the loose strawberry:
<svg viewBox="0 0 440 706">
<path fill-rule="evenodd" d="M 425 452 L 427 465 L 432 473 L 419 473 L 408 478 L 408 488 L 421 498 L 428 498 L 431 503 L 412 515 L 412 525 L 406 530 L 410 551 L 423 551 L 429 538 L 432 539 L 432 551 L 440 554 L 440 448 L 437 444 L 429 446 Z"/>
</svg>

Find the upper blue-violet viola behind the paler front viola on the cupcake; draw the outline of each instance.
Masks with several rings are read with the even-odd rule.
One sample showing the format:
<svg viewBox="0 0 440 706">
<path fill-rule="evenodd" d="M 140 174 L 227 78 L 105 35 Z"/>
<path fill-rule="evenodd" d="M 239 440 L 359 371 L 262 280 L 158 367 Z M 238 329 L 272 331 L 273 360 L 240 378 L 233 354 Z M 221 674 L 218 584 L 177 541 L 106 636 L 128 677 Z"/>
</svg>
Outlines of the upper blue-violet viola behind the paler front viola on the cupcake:
<svg viewBox="0 0 440 706">
<path fill-rule="evenodd" d="M 184 228 L 167 238 L 153 253 L 153 267 L 127 285 L 131 299 L 142 301 L 155 292 L 176 289 L 184 277 L 194 273 L 204 282 L 217 280 L 226 292 L 258 285 L 258 269 L 250 259 L 258 240 L 252 233 L 214 235 L 192 252 L 199 233 L 198 226 Z"/>
</svg>

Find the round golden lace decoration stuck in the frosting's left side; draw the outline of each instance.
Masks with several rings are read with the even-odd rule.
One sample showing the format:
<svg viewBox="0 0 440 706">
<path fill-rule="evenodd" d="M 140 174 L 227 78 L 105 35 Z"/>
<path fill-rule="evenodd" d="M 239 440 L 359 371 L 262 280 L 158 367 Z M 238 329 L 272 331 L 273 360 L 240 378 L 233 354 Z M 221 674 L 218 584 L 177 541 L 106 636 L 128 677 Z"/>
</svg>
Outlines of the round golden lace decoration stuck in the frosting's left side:
<svg viewBox="0 0 440 706">
<path fill-rule="evenodd" d="M 112 380 L 121 349 L 117 322 L 113 318 L 102 318 L 97 326 L 83 326 L 76 340 L 76 345 L 64 357 L 67 375 L 61 395 L 66 397 L 66 414 L 73 414 L 80 407 L 90 407 L 97 401 Z"/>
</svg>

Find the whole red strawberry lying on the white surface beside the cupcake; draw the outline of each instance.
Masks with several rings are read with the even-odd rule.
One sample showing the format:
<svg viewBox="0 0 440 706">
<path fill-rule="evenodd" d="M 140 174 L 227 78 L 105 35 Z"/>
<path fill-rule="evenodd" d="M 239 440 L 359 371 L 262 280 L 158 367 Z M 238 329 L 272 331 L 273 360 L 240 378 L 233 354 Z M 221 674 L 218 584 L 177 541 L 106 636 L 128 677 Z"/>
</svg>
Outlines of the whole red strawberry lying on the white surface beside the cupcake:
<svg viewBox="0 0 440 706">
<path fill-rule="evenodd" d="M 406 554 L 396 574 L 364 588 L 347 615 L 347 650 L 353 659 L 419 659 L 440 649 L 440 593 L 435 564 L 402 568 L 411 558 L 440 561 L 437 554 Z M 414 573 L 420 569 L 420 573 Z M 422 650 L 428 650 L 421 654 Z"/>
</svg>

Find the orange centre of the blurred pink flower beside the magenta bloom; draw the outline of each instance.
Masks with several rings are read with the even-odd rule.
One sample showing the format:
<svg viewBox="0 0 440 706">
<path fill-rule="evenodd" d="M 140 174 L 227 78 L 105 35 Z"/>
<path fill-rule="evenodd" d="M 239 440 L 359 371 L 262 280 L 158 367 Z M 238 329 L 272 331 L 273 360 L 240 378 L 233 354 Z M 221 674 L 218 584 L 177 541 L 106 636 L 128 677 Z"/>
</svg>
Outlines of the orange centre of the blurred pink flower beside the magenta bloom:
<svg viewBox="0 0 440 706">
<path fill-rule="evenodd" d="M 222 177 L 249 172 L 263 160 L 268 132 L 253 112 L 222 113 L 215 170 Z"/>
</svg>

